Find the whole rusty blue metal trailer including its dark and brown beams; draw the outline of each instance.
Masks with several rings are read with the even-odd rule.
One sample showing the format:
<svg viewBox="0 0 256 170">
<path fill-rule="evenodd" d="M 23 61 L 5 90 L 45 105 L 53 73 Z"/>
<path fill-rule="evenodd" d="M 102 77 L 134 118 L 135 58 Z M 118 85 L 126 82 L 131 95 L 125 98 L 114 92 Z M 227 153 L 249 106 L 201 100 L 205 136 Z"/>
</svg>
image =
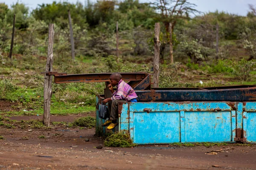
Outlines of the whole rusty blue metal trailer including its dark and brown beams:
<svg viewBox="0 0 256 170">
<path fill-rule="evenodd" d="M 55 83 L 106 82 L 111 73 L 54 75 Z M 172 142 L 256 142 L 256 86 L 151 88 L 150 74 L 121 73 L 136 91 L 138 102 L 119 103 L 119 125 L 136 144 Z M 108 88 L 96 96 L 96 131 L 107 133 L 99 118 Z"/>
</svg>

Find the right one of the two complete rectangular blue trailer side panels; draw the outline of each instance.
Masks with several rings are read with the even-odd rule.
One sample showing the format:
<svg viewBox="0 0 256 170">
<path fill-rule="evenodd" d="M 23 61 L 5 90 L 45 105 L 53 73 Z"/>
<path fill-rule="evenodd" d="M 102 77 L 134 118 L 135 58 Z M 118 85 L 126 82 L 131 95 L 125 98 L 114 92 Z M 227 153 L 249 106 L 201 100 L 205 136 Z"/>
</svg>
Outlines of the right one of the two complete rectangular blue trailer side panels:
<svg viewBox="0 0 256 170">
<path fill-rule="evenodd" d="M 231 111 L 185 112 L 185 142 L 231 142 Z"/>
</svg>

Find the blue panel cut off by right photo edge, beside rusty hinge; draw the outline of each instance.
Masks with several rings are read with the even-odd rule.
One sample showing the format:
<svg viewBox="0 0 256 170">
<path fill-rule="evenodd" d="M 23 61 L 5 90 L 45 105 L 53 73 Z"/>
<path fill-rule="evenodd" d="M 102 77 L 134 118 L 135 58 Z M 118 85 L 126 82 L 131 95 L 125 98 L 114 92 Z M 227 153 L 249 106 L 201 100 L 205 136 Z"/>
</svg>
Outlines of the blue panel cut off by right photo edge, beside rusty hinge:
<svg viewBox="0 0 256 170">
<path fill-rule="evenodd" d="M 243 129 L 247 142 L 256 142 L 256 112 L 244 112 Z"/>
</svg>

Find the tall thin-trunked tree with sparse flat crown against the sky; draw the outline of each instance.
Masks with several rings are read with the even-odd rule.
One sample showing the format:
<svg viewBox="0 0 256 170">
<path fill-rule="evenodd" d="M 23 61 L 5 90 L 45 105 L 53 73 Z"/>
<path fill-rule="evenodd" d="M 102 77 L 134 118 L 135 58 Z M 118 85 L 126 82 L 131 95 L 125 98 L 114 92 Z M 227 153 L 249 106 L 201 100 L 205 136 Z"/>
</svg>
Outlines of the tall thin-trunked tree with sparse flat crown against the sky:
<svg viewBox="0 0 256 170">
<path fill-rule="evenodd" d="M 158 20 L 163 22 L 169 46 L 170 48 L 173 48 L 172 42 L 170 42 L 172 34 L 169 33 L 169 26 L 172 26 L 171 32 L 173 33 L 178 20 L 189 18 L 189 13 L 198 12 L 195 9 L 196 5 L 190 3 L 189 0 L 157 0 L 157 2 L 151 4 L 156 6 Z M 172 54 L 170 53 L 170 58 L 171 57 Z M 172 61 L 173 58 L 171 58 L 171 62 Z"/>
</svg>

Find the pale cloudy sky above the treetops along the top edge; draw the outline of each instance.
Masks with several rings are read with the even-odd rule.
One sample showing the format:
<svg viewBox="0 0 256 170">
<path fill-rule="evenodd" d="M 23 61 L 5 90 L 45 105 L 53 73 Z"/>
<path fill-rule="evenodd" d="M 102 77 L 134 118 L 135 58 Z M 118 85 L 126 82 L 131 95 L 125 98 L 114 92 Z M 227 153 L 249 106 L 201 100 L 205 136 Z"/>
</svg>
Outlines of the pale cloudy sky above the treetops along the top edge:
<svg viewBox="0 0 256 170">
<path fill-rule="evenodd" d="M 19 3 L 24 3 L 29 6 L 30 11 L 35 9 L 38 4 L 42 3 L 52 3 L 54 0 L 19 0 Z M 57 2 L 63 0 L 56 0 Z M 64 0 L 70 3 L 76 3 L 77 0 Z M 79 0 L 84 4 L 84 0 Z M 87 1 L 87 0 L 86 0 Z M 148 0 L 139 0 L 141 3 L 148 2 Z M 154 0 L 151 0 L 153 2 Z M 0 0 L 1 3 L 6 3 L 11 6 L 16 3 L 17 0 Z M 91 0 L 91 2 L 96 2 L 96 0 Z M 246 16 L 249 11 L 248 4 L 256 5 L 256 0 L 189 0 L 191 3 L 197 5 L 196 9 L 201 12 L 213 12 L 213 11 L 224 11 L 231 14 L 239 14 Z"/>
</svg>

